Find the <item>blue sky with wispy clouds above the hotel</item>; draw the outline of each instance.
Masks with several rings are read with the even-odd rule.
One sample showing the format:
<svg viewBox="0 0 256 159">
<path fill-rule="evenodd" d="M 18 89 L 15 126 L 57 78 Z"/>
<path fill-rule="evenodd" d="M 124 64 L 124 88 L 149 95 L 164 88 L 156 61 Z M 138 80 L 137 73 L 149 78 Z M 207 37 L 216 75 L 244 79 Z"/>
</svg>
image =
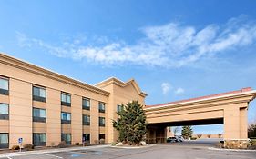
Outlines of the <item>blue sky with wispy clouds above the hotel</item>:
<svg viewBox="0 0 256 159">
<path fill-rule="evenodd" d="M 0 1 L 0 51 L 96 84 L 135 78 L 159 104 L 256 88 L 251 0 Z M 256 120 L 256 102 L 249 121 Z M 195 126 L 197 134 L 222 125 Z"/>
</svg>

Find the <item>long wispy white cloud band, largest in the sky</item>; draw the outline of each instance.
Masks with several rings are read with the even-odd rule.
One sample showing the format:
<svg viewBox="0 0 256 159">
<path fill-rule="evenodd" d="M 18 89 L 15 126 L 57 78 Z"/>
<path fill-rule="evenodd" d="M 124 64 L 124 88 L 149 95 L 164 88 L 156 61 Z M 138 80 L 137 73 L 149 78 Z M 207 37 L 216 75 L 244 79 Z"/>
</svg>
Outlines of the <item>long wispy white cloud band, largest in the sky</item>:
<svg viewBox="0 0 256 159">
<path fill-rule="evenodd" d="M 256 23 L 241 15 L 224 25 L 206 25 L 198 29 L 191 25 L 169 23 L 140 29 L 144 37 L 134 45 L 94 39 L 95 44 L 80 39 L 52 45 L 43 40 L 17 34 L 19 45 L 43 48 L 46 52 L 74 60 L 86 60 L 100 65 L 143 65 L 181 67 L 233 49 L 255 44 Z"/>
</svg>

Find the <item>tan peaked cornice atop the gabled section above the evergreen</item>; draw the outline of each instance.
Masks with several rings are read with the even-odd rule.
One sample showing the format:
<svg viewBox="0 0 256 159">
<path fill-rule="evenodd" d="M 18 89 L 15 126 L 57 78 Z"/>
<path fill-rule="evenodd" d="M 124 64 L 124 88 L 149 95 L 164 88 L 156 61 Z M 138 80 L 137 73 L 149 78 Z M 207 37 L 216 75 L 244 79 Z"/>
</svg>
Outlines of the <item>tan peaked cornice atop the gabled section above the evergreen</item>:
<svg viewBox="0 0 256 159">
<path fill-rule="evenodd" d="M 104 80 L 98 84 L 95 84 L 95 86 L 97 86 L 98 88 L 104 88 L 105 86 L 109 85 L 109 84 L 116 84 L 120 87 L 126 87 L 129 84 L 132 84 L 135 88 L 135 90 L 138 92 L 139 95 L 146 97 L 148 94 L 142 92 L 137 84 L 137 82 L 132 78 L 130 80 L 128 80 L 127 82 L 123 82 L 121 80 L 119 80 L 116 77 L 110 77 L 107 80 Z"/>
</svg>

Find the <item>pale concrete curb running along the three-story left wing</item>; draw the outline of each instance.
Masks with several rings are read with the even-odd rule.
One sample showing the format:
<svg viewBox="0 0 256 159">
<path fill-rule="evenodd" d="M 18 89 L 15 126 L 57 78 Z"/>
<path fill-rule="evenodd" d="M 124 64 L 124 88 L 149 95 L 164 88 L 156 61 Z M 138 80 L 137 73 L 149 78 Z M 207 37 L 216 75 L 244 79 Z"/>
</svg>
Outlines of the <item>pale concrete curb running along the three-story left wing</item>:
<svg viewBox="0 0 256 159">
<path fill-rule="evenodd" d="M 103 148 L 109 147 L 108 145 L 94 145 L 94 146 L 86 146 L 86 147 L 76 147 L 76 148 L 56 148 L 56 149 L 48 149 L 48 150 L 35 150 L 35 151 L 26 151 L 26 152 L 15 152 L 15 153 L 5 153 L 0 154 L 0 158 L 8 158 L 14 156 L 21 156 L 21 155 L 32 155 L 32 154 L 47 154 L 47 153 L 59 153 L 59 152 L 68 152 L 68 151 L 75 151 L 75 150 L 89 150 L 95 148 Z"/>
</svg>

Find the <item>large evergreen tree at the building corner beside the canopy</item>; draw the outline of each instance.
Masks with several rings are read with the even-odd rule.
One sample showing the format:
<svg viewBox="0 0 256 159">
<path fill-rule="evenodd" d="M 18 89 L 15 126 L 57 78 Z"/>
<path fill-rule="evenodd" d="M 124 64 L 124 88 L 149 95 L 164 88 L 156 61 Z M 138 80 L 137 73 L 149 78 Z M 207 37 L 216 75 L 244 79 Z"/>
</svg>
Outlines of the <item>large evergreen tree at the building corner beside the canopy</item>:
<svg viewBox="0 0 256 159">
<path fill-rule="evenodd" d="M 138 144 L 146 134 L 146 114 L 138 101 L 122 105 L 118 111 L 118 121 L 113 121 L 113 126 L 119 132 L 119 141 L 129 144 Z"/>
</svg>

